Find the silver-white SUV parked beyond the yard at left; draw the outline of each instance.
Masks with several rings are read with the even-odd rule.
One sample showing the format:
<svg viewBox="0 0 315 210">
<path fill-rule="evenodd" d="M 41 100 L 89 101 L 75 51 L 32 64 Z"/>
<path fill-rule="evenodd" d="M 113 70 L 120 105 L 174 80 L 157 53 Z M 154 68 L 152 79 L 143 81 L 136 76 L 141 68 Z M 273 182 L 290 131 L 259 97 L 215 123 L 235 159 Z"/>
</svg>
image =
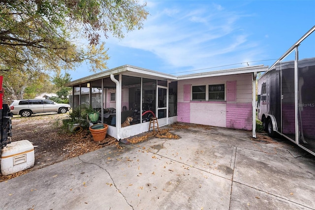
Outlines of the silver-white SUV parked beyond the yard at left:
<svg viewBox="0 0 315 210">
<path fill-rule="evenodd" d="M 43 112 L 66 113 L 69 108 L 69 104 L 58 104 L 47 99 L 13 100 L 10 105 L 11 113 L 22 117 L 30 117 L 32 114 Z"/>
</svg>

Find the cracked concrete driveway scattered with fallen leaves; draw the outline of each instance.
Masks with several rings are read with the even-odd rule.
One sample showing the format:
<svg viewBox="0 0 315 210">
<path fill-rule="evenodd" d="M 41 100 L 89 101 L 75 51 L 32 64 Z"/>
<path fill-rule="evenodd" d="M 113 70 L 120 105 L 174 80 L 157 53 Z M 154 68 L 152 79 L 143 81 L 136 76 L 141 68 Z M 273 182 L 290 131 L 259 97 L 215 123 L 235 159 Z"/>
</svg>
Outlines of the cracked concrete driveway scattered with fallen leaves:
<svg viewBox="0 0 315 210">
<path fill-rule="evenodd" d="M 0 209 L 315 209 L 315 158 L 289 141 L 171 132 L 181 138 L 107 146 L 1 182 Z"/>
</svg>

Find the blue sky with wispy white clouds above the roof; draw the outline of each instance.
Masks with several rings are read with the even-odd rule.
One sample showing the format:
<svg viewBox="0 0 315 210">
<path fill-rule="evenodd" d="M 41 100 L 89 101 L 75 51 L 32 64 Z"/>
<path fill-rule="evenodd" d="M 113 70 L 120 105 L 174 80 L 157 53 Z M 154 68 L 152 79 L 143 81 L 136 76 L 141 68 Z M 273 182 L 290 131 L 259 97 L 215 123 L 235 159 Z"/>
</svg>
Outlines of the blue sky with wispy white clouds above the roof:
<svg viewBox="0 0 315 210">
<path fill-rule="evenodd" d="M 143 29 L 103 40 L 108 69 L 183 75 L 271 66 L 315 25 L 315 0 L 148 0 L 147 10 Z M 72 80 L 93 74 L 88 69 L 70 72 Z"/>
</svg>

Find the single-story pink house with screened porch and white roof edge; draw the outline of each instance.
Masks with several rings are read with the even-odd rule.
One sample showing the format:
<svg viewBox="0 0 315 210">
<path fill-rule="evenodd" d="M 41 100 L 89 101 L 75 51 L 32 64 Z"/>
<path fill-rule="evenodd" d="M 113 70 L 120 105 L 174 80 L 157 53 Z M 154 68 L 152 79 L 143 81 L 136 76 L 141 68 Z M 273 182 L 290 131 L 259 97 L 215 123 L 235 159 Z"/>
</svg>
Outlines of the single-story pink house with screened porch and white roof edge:
<svg viewBox="0 0 315 210">
<path fill-rule="evenodd" d="M 118 140 L 158 125 L 189 122 L 252 130 L 255 135 L 256 76 L 268 66 L 256 65 L 182 76 L 124 65 L 75 81 L 70 104 L 89 104 Z M 129 126 L 121 124 L 132 117 Z"/>
</svg>

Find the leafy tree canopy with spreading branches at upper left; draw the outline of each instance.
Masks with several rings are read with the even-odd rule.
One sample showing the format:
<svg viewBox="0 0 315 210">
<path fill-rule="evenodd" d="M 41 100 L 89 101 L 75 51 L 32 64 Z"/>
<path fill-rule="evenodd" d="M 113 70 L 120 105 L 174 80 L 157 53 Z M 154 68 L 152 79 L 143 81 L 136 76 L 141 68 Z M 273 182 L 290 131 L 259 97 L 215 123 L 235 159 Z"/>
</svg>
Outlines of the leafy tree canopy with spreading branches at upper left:
<svg viewBox="0 0 315 210">
<path fill-rule="evenodd" d="M 137 0 L 0 0 L 0 72 L 5 81 L 16 75 L 23 83 L 85 61 L 91 71 L 103 70 L 109 57 L 102 37 L 141 29 L 145 6 Z"/>
</svg>

